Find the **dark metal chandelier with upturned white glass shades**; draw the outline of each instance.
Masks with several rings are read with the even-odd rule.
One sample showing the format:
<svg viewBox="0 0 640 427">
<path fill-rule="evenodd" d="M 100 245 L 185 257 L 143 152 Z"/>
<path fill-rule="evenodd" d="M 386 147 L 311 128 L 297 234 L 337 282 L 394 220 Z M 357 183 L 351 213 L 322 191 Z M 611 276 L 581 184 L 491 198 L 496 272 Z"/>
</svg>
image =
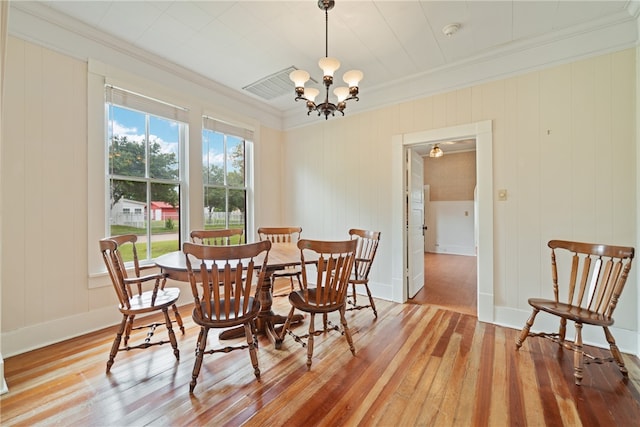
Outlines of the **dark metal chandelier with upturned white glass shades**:
<svg viewBox="0 0 640 427">
<path fill-rule="evenodd" d="M 336 111 L 344 116 L 344 109 L 347 107 L 347 101 L 358 98 L 358 83 L 362 80 L 363 74 L 360 70 L 351 70 L 344 73 L 343 80 L 349 87 L 340 86 L 333 90 L 333 94 L 338 98 L 338 101 L 334 104 L 329 102 L 329 88 L 333 84 L 333 73 L 340 68 L 340 61 L 335 58 L 329 57 L 329 10 L 333 9 L 335 0 L 318 0 L 318 7 L 324 10 L 325 16 L 325 55 L 318 61 L 318 65 L 322 69 L 323 77 L 322 82 L 325 87 L 325 98 L 319 104 L 315 103 L 316 96 L 320 94 L 320 91 L 315 88 L 307 88 L 305 90 L 304 84 L 309 80 L 309 73 L 304 70 L 295 70 L 289 74 L 289 78 L 294 82 L 296 87 L 296 101 L 303 100 L 307 103 L 309 111 L 307 115 L 312 111 L 317 111 L 318 116 L 324 114 L 325 120 L 329 118 L 329 115 L 335 116 Z"/>
</svg>

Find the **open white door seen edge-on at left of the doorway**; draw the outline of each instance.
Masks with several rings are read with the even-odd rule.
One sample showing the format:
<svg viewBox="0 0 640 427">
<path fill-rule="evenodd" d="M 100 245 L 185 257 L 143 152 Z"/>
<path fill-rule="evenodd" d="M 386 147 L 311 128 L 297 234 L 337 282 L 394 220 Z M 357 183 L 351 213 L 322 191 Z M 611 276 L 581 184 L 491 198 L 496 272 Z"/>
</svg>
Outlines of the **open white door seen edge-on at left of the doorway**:
<svg viewBox="0 0 640 427">
<path fill-rule="evenodd" d="M 424 160 L 407 150 L 407 278 L 409 298 L 424 286 Z"/>
</svg>

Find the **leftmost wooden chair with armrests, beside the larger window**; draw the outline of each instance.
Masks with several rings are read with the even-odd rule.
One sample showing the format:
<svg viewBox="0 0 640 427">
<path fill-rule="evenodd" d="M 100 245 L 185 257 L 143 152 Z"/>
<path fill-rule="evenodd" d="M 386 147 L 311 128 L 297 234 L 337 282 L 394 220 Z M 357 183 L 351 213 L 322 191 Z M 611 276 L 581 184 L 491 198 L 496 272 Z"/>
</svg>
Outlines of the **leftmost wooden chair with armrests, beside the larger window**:
<svg viewBox="0 0 640 427">
<path fill-rule="evenodd" d="M 173 309 L 175 322 L 184 334 L 184 326 L 182 317 L 178 312 L 176 303 L 180 297 L 180 289 L 166 288 L 166 277 L 162 274 L 142 275 L 140 263 L 138 261 L 138 252 L 136 250 L 137 236 L 126 234 L 122 236 L 113 236 L 100 240 L 100 251 L 102 258 L 111 277 L 113 289 L 118 297 L 118 309 L 122 313 L 122 321 L 116 332 L 116 337 L 111 346 L 109 360 L 107 361 L 107 373 L 111 370 L 111 366 L 119 351 L 129 351 L 133 349 L 145 349 L 155 345 L 171 343 L 173 354 L 176 359 L 180 359 L 180 352 L 176 341 L 175 333 L 172 328 L 172 321 L 169 317 L 169 308 Z M 126 265 L 123 261 L 121 250 L 131 251 L 133 254 L 133 273 L 127 273 Z M 148 289 L 151 286 L 151 289 Z M 147 289 L 147 290 L 145 290 Z M 144 325 L 135 326 L 135 317 L 138 315 L 148 314 L 152 312 L 162 312 L 164 316 L 164 325 L 167 328 L 169 341 L 158 340 L 152 342 L 153 334 L 158 326 L 163 323 L 152 322 Z M 144 338 L 144 342 L 130 346 L 129 339 L 132 331 L 139 329 L 148 329 L 148 333 Z M 124 335 L 124 345 L 120 347 Z"/>
</svg>

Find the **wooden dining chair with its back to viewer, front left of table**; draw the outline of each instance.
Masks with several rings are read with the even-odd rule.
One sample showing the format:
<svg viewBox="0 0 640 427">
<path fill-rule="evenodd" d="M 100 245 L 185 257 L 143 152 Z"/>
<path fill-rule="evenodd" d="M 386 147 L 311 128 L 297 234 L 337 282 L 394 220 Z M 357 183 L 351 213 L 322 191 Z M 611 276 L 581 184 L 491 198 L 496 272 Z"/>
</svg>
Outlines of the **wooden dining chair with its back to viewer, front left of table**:
<svg viewBox="0 0 640 427">
<path fill-rule="evenodd" d="M 254 375 L 260 379 L 255 319 L 261 306 L 257 295 L 251 292 L 251 285 L 257 276 L 258 289 L 260 288 L 270 248 L 269 241 L 231 246 L 206 246 L 188 242 L 183 245 L 182 251 L 186 257 L 187 274 L 194 298 L 192 317 L 200 325 L 190 393 L 193 393 L 196 386 L 205 354 L 229 353 L 248 348 Z M 211 268 L 214 264 L 217 268 Z M 207 349 L 210 329 L 234 326 L 244 326 L 246 345 L 212 345 Z"/>
</svg>

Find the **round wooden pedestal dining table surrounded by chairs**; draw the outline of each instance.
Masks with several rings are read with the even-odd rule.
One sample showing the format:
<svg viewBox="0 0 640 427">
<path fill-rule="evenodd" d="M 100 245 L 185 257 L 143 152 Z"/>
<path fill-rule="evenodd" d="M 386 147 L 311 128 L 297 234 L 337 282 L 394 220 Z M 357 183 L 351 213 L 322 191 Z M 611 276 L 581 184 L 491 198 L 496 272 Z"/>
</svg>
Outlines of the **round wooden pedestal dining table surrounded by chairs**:
<svg viewBox="0 0 640 427">
<path fill-rule="evenodd" d="M 306 255 L 305 255 L 306 256 Z M 256 257 L 255 264 L 262 265 L 263 258 Z M 305 262 L 314 262 L 314 259 L 305 258 Z M 187 273 L 186 257 L 182 251 L 169 252 L 154 259 L 155 264 L 160 268 L 167 278 L 182 282 L 189 281 Z M 272 310 L 273 305 L 273 273 L 285 267 L 294 267 L 301 264 L 300 249 L 296 243 L 273 243 L 267 257 L 266 274 L 264 281 L 259 285 L 258 299 L 261 303 L 260 313 L 256 319 L 258 333 L 266 335 L 274 344 L 276 349 L 282 345 L 282 327 L 286 316 L 276 314 Z M 222 268 L 222 266 L 221 266 Z M 297 314 L 291 323 L 300 323 L 303 316 Z M 232 339 L 244 336 L 244 328 L 228 329 L 220 334 L 220 339 Z"/>
</svg>

